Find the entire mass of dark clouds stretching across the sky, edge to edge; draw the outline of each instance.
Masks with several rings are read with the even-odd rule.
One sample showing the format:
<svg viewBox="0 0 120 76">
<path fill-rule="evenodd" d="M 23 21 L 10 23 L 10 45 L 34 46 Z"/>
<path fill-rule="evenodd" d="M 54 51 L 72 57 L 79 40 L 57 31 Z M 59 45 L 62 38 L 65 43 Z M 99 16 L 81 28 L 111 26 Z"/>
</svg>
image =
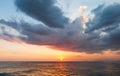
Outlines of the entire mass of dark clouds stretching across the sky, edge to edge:
<svg viewBox="0 0 120 76">
<path fill-rule="evenodd" d="M 94 18 L 87 23 L 84 16 L 69 23 L 60 8 L 54 5 L 54 0 L 16 0 L 15 4 L 23 13 L 43 24 L 0 20 L 2 39 L 19 39 L 29 44 L 86 53 L 120 49 L 120 4 L 99 5 L 92 11 Z"/>
</svg>

